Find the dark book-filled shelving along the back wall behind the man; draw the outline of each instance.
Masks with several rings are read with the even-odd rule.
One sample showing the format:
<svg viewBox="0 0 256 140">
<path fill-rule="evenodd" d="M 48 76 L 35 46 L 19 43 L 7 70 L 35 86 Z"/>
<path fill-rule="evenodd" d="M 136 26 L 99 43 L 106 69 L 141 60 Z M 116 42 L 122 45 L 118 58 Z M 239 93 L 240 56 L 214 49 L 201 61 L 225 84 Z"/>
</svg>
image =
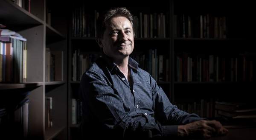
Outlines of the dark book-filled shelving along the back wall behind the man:
<svg viewBox="0 0 256 140">
<path fill-rule="evenodd" d="M 215 101 L 239 101 L 240 99 L 242 101 L 248 101 L 250 100 L 248 97 L 252 97 L 250 91 L 255 91 L 253 89 L 255 80 L 250 80 L 250 75 L 247 76 L 249 80 L 241 81 L 236 80 L 236 78 L 239 79 L 239 77 L 233 72 L 233 75 L 227 76 L 225 80 L 218 79 L 217 81 L 216 77 L 210 78 L 210 76 L 208 76 L 209 72 L 207 72 L 208 74 L 201 73 L 201 76 L 204 77 L 201 77 L 201 81 L 199 81 L 195 80 L 197 77 L 194 73 L 190 72 L 195 71 L 194 69 L 189 70 L 189 74 L 184 74 L 185 72 L 182 68 L 177 68 L 177 56 L 181 55 L 182 58 L 184 53 L 186 54 L 186 59 L 188 56 L 191 56 L 192 60 L 189 60 L 191 62 L 194 62 L 196 57 L 202 59 L 207 57 L 208 59 L 206 59 L 205 62 L 208 61 L 209 63 L 210 55 L 213 55 L 214 58 L 219 56 L 219 58 L 223 57 L 228 59 L 232 57 L 236 58 L 245 52 L 250 52 L 250 60 L 255 59 L 255 50 L 250 47 L 250 44 L 255 45 L 254 41 L 256 38 L 255 22 L 252 20 L 252 17 L 255 17 L 253 14 L 255 10 L 253 10 L 252 3 L 250 3 L 250 5 L 248 3 L 229 3 L 223 1 L 205 2 L 200 0 L 197 2 L 188 2 L 169 0 L 162 3 L 143 3 L 138 1 L 134 3 L 101 2 L 102 5 L 104 5 L 104 7 L 102 7 L 99 6 L 97 2 L 98 1 L 92 2 L 88 6 L 86 3 L 74 1 L 74 3 L 72 3 L 73 8 L 70 8 L 71 10 L 69 11 L 68 112 L 72 112 L 72 99 L 78 98 L 78 88 L 80 84 L 80 76 L 74 73 L 74 70 L 77 71 L 73 66 L 75 50 L 76 55 L 78 55 L 78 50 L 79 54 L 85 56 L 100 54 L 94 36 L 94 17 L 97 15 L 97 12 L 101 14 L 102 11 L 111 7 L 126 7 L 131 11 L 131 14 L 138 18 L 138 26 L 135 27 L 136 37 L 134 38 L 134 52 L 132 53 L 135 59 L 136 56 L 143 56 L 143 52 L 154 49 L 157 49 L 157 55 L 163 55 L 164 60 L 168 59 L 168 62 L 164 63 L 166 67 L 169 68 L 169 70 L 164 70 L 164 75 L 167 76 L 167 78 L 163 78 L 164 80 L 162 81 L 157 80 L 157 83 L 163 88 L 173 104 L 185 104 L 186 106 L 191 104 L 191 109 L 193 105 L 198 104 L 200 106 L 202 100 L 203 102 L 207 101 L 208 103 L 205 104 L 208 104 L 207 106 L 210 105 L 209 108 L 205 108 L 205 110 L 210 110 L 208 115 L 201 114 L 199 111 L 196 111 L 196 113 L 203 117 L 211 118 L 214 117 Z M 140 13 L 142 13 L 141 17 Z M 140 18 L 143 21 L 144 14 L 147 14 L 148 18 L 150 18 L 150 14 L 154 15 L 154 13 L 163 13 L 165 15 L 166 35 L 164 37 L 151 37 L 150 29 L 145 33 L 144 26 L 142 32 L 140 30 Z M 200 26 L 200 18 L 202 18 L 202 26 Z M 207 18 L 209 18 L 209 22 Z M 218 23 L 216 27 L 214 26 L 214 19 L 216 19 L 215 22 Z M 88 20 L 90 22 L 88 22 Z M 143 22 L 143 24 L 146 23 Z M 218 31 L 214 28 L 218 28 Z M 90 36 L 88 36 L 88 30 L 90 30 Z M 148 37 L 145 37 L 144 34 L 147 34 Z M 147 54 L 145 54 L 145 57 L 147 57 L 146 55 Z M 140 63 L 140 59 L 137 60 L 137 62 Z M 206 64 L 204 65 L 206 67 Z M 252 61 L 252 65 L 253 68 L 250 73 L 254 75 L 255 61 Z M 140 66 L 142 65 L 140 64 Z M 192 66 L 191 63 L 189 67 L 194 66 Z M 209 67 L 209 64 L 207 67 Z M 147 70 L 145 68 L 143 69 Z M 150 72 L 150 70 L 147 71 Z M 186 68 L 186 73 L 187 72 L 188 69 Z M 76 75 L 76 80 L 74 80 L 74 75 Z M 183 76 L 183 78 L 178 80 L 178 75 Z M 215 73 L 215 75 L 217 74 Z M 190 76 L 189 80 L 188 76 Z M 186 80 L 184 77 L 186 77 Z M 232 80 L 231 77 L 233 77 Z M 178 107 L 180 108 L 180 105 Z M 183 109 L 186 111 L 187 108 Z M 204 109 L 201 108 L 201 110 Z M 193 111 L 193 109 L 190 111 Z M 76 138 L 78 127 L 79 125 L 77 123 L 72 123 L 72 113 L 69 113 L 68 139 Z"/>
</svg>

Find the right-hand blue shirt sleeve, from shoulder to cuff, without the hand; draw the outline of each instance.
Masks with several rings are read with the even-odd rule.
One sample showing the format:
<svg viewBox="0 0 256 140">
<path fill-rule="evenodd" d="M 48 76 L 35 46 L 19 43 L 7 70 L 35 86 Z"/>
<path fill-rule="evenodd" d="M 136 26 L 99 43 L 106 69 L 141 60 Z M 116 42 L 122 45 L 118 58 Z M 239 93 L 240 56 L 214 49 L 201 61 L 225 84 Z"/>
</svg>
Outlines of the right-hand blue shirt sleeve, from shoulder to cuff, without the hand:
<svg viewBox="0 0 256 140">
<path fill-rule="evenodd" d="M 198 115 L 189 114 L 173 105 L 161 87 L 157 85 L 154 78 L 151 78 L 151 88 L 154 101 L 155 118 L 163 128 L 163 136 L 177 136 L 178 125 L 192 123 L 202 120 Z"/>
</svg>

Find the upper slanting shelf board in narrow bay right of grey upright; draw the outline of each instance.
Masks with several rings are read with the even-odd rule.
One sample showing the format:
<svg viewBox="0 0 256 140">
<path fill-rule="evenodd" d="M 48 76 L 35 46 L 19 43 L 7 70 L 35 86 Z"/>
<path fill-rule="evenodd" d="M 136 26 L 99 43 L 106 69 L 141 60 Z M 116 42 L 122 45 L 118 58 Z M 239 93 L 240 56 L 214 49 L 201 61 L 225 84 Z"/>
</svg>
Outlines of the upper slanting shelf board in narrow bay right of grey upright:
<svg viewBox="0 0 256 140">
<path fill-rule="evenodd" d="M 65 39 L 63 34 L 46 24 L 46 44 L 61 41 L 63 39 Z"/>
</svg>

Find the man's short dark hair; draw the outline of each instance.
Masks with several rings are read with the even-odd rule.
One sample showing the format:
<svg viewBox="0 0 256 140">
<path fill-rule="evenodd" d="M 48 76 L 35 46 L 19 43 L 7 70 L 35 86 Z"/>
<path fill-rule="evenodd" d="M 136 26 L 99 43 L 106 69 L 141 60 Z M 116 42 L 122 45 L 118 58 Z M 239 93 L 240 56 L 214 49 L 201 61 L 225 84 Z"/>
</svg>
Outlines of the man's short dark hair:
<svg viewBox="0 0 256 140">
<path fill-rule="evenodd" d="M 112 8 L 108 10 L 105 14 L 99 16 L 97 20 L 97 38 L 102 39 L 104 31 L 106 30 L 106 25 L 113 17 L 126 17 L 131 22 L 134 33 L 133 17 L 131 12 L 125 7 L 118 7 Z"/>
</svg>

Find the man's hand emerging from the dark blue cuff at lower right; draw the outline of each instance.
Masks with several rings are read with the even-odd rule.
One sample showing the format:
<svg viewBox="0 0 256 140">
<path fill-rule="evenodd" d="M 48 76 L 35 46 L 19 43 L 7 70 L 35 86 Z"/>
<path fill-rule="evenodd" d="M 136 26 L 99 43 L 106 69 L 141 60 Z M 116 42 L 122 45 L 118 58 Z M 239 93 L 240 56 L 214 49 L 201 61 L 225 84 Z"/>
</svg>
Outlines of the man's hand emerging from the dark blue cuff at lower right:
<svg viewBox="0 0 256 140">
<path fill-rule="evenodd" d="M 228 130 L 216 120 L 199 120 L 178 126 L 178 136 L 209 139 L 212 136 L 225 135 Z"/>
</svg>

